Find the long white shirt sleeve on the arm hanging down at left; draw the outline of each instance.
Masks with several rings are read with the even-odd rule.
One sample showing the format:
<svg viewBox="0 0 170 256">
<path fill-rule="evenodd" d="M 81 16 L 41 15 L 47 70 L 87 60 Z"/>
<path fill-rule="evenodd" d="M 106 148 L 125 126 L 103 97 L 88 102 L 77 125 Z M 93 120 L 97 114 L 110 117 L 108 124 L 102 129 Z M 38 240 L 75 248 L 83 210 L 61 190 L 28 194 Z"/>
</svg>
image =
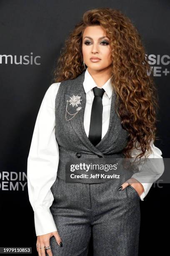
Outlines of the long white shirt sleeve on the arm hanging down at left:
<svg viewBox="0 0 170 256">
<path fill-rule="evenodd" d="M 28 155 L 28 195 L 37 236 L 57 231 L 50 206 L 50 188 L 57 177 L 59 149 L 55 138 L 55 96 L 60 83 L 50 85 L 42 100 Z"/>
</svg>

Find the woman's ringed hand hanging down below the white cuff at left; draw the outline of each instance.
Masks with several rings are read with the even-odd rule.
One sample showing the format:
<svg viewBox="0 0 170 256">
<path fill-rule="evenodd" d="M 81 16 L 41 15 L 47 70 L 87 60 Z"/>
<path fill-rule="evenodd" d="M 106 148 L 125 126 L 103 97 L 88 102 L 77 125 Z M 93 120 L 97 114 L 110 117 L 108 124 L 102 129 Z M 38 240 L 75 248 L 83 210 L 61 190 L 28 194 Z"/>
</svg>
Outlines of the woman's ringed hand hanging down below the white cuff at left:
<svg viewBox="0 0 170 256">
<path fill-rule="evenodd" d="M 62 247 L 62 241 L 58 234 L 58 231 L 54 231 L 52 233 L 48 233 L 42 236 L 37 236 L 37 252 L 39 256 L 45 256 L 45 247 L 50 246 L 50 237 L 54 236 L 58 246 Z M 52 256 L 52 251 L 46 251 L 49 256 Z"/>
</svg>

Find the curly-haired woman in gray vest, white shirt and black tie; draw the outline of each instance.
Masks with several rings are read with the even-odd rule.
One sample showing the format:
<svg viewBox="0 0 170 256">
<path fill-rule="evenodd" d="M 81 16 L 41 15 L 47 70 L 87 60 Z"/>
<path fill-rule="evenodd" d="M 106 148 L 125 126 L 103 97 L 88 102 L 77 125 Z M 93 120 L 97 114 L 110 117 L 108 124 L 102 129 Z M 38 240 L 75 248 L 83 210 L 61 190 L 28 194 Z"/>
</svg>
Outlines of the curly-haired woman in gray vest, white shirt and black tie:
<svg viewBox="0 0 170 256">
<path fill-rule="evenodd" d="M 119 10 L 89 10 L 70 33 L 28 156 L 39 255 L 87 255 L 90 236 L 96 256 L 138 255 L 140 200 L 153 182 L 125 172 L 114 181 L 68 183 L 65 167 L 78 159 L 162 159 L 148 70 L 140 36 Z"/>
</svg>

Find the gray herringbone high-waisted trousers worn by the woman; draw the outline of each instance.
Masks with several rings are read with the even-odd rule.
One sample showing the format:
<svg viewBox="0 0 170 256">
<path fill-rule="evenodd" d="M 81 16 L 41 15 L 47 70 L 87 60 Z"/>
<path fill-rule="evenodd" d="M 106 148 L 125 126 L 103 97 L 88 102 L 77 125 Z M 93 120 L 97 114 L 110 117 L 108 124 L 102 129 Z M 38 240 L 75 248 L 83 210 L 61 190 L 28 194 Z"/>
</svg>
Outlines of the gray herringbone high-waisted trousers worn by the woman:
<svg viewBox="0 0 170 256">
<path fill-rule="evenodd" d="M 87 256 L 90 236 L 94 256 L 138 256 L 140 197 L 122 181 L 66 183 L 57 177 L 50 210 L 62 239 L 50 238 L 53 256 Z"/>
</svg>

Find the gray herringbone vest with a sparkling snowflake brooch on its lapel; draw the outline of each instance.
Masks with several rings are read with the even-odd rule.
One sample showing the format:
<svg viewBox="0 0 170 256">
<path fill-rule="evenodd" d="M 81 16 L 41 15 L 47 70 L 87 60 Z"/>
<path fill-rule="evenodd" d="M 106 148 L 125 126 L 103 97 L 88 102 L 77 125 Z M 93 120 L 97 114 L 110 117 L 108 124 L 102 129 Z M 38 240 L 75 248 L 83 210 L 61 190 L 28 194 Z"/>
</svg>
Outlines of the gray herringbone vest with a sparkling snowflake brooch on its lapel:
<svg viewBox="0 0 170 256">
<path fill-rule="evenodd" d="M 122 149 L 128 143 L 128 132 L 122 128 L 120 118 L 115 111 L 116 94 L 112 91 L 110 123 L 107 133 L 102 140 L 94 146 L 88 139 L 84 129 L 84 110 L 86 105 L 86 94 L 83 87 L 85 71 L 75 79 L 63 80 L 60 83 L 59 90 L 55 99 L 55 137 L 59 147 L 59 164 L 57 176 L 65 179 L 65 164 L 67 161 L 76 160 L 77 158 L 122 158 Z M 81 96 L 80 104 L 77 106 L 67 104 L 67 100 L 73 95 Z M 70 114 L 77 112 L 72 118 Z M 70 120 L 68 120 L 70 119 Z"/>
</svg>

